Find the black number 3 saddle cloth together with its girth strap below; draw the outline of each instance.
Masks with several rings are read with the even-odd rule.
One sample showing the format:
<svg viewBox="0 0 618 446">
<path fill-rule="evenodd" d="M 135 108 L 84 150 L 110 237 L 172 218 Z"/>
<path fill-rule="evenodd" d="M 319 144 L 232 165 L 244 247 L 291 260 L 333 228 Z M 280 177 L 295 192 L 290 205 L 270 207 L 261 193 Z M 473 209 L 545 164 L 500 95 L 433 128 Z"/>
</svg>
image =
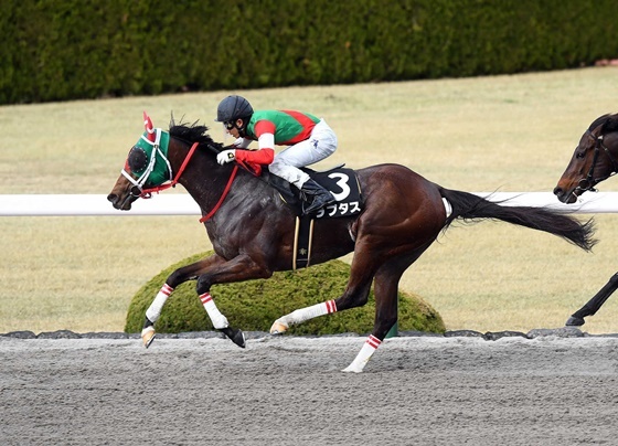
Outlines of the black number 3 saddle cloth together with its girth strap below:
<svg viewBox="0 0 618 446">
<path fill-rule="evenodd" d="M 298 188 L 264 169 L 263 178 L 277 189 L 281 199 L 290 205 L 296 213 L 296 231 L 294 240 L 292 269 L 309 266 L 311 261 L 311 238 L 313 221 L 320 219 L 334 219 L 359 214 L 363 209 L 361 185 L 356 173 L 352 169 L 338 166 L 324 172 L 317 172 L 301 168 L 318 184 L 330 191 L 337 202 L 330 204 L 311 215 L 302 214 L 303 200 Z"/>
</svg>

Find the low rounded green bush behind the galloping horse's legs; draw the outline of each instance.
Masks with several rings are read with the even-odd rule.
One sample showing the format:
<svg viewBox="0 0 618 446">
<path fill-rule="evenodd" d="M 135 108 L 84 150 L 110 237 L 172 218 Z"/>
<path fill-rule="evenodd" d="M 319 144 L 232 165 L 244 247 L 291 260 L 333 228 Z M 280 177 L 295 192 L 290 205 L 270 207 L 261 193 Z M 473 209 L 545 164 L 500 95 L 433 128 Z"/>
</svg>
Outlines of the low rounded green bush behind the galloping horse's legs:
<svg viewBox="0 0 618 446">
<path fill-rule="evenodd" d="M 211 255 L 202 253 L 185 258 L 159 273 L 134 296 L 127 312 L 126 332 L 139 332 L 146 310 L 154 296 L 177 268 Z M 238 284 L 215 285 L 212 295 L 230 325 L 247 331 L 268 331 L 279 317 L 295 309 L 339 297 L 350 274 L 350 266 L 331 261 L 297 272 L 275 273 L 269 279 Z M 398 329 L 401 331 L 444 332 L 445 326 L 436 310 L 422 298 L 399 291 Z M 375 302 L 361 308 L 317 318 L 291 327 L 296 334 L 332 334 L 342 332 L 369 333 L 373 330 Z M 158 332 L 206 331 L 213 326 L 195 293 L 195 282 L 179 286 L 166 304 L 154 325 Z"/>
</svg>

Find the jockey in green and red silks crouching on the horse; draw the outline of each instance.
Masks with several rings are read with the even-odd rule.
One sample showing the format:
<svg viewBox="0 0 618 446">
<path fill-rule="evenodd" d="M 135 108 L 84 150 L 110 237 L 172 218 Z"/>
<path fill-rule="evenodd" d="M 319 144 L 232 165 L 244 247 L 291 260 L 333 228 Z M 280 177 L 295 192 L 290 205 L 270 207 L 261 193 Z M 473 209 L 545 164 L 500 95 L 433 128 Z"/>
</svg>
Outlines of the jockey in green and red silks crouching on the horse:
<svg viewBox="0 0 618 446">
<path fill-rule="evenodd" d="M 254 112 L 247 99 L 233 95 L 219 104 L 215 120 L 236 138 L 233 148 L 216 156 L 220 164 L 234 160 L 268 164 L 271 173 L 296 185 L 305 201 L 312 197 L 306 215 L 334 203 L 332 193 L 299 169 L 337 150 L 337 136 L 323 119 L 292 110 Z M 257 150 L 236 150 L 252 141 L 257 141 Z M 288 147 L 275 155 L 275 145 Z"/>
</svg>

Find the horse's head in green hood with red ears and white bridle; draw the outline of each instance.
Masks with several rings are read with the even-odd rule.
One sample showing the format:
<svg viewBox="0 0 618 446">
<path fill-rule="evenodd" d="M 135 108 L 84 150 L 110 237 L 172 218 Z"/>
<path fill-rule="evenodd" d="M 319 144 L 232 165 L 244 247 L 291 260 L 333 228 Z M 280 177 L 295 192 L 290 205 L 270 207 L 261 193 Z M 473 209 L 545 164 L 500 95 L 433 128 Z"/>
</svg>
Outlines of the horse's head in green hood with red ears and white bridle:
<svg viewBox="0 0 618 446">
<path fill-rule="evenodd" d="M 138 198 L 148 198 L 147 188 L 156 188 L 172 180 L 172 168 L 168 160 L 170 135 L 153 128 L 152 121 L 143 113 L 146 131 L 129 150 L 120 177 L 114 184 L 107 200 L 121 211 L 131 209 Z"/>
</svg>

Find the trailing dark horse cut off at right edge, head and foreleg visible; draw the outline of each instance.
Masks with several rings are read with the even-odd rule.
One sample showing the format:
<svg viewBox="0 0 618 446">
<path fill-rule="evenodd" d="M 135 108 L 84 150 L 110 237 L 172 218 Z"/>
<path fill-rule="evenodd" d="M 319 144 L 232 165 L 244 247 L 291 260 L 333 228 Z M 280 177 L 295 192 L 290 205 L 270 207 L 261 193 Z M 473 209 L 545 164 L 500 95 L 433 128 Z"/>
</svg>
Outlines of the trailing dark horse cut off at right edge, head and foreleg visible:
<svg viewBox="0 0 618 446">
<path fill-rule="evenodd" d="M 595 185 L 615 173 L 618 173 L 618 114 L 603 115 L 582 135 L 554 194 L 563 203 L 575 203 L 580 194 L 595 191 Z M 596 314 L 617 288 L 618 273 L 586 305 L 575 311 L 566 325 L 583 326 L 584 318 Z"/>
</svg>

